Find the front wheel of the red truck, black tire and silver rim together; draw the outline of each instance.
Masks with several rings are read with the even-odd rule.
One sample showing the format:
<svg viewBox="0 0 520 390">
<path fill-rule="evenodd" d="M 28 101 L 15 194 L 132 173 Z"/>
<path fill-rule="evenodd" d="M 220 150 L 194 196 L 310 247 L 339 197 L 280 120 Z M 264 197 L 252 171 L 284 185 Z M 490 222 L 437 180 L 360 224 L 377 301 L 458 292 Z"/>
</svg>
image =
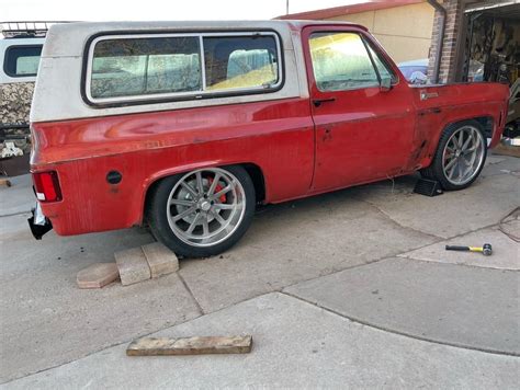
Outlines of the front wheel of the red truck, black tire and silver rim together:
<svg viewBox="0 0 520 390">
<path fill-rule="evenodd" d="M 420 171 L 446 191 L 463 190 L 481 174 L 487 156 L 486 136 L 476 121 L 450 126 L 441 135 L 431 165 Z"/>
</svg>

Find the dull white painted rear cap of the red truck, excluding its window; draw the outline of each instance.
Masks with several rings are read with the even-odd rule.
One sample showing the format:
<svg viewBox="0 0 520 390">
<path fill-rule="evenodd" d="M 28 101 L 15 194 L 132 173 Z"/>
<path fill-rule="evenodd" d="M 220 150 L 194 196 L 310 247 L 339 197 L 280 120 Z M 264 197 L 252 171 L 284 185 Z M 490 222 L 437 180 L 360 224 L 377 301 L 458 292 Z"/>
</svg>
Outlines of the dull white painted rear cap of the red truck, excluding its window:
<svg viewBox="0 0 520 390">
<path fill-rule="evenodd" d="M 319 22 L 317 22 L 319 23 Z M 112 22 L 112 23 L 70 23 L 55 24 L 47 34 L 42 54 L 38 78 L 31 110 L 31 122 L 65 121 L 129 113 L 169 111 L 189 107 L 237 104 L 246 102 L 271 101 L 289 97 L 307 97 L 307 77 L 298 33 L 298 22 Z M 81 97 L 81 71 L 87 41 L 99 32 L 146 31 L 174 33 L 176 31 L 240 31 L 274 30 L 283 47 L 283 87 L 276 92 L 250 95 L 207 99 L 203 101 L 182 101 L 133 105 L 127 107 L 94 108 Z M 296 49 L 295 49 L 296 47 Z"/>
</svg>

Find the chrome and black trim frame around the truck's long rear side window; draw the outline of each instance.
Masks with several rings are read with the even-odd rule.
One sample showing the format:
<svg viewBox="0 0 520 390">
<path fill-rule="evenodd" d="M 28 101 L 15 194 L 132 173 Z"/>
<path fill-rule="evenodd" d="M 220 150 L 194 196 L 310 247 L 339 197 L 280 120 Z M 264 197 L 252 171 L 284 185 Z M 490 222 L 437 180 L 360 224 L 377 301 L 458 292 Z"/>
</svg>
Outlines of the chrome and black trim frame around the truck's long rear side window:
<svg viewBox="0 0 520 390">
<path fill-rule="evenodd" d="M 160 38 L 160 37 L 189 37 L 194 36 L 199 37 L 199 50 L 201 59 L 201 77 L 202 77 L 202 87 L 206 88 L 205 80 L 205 58 L 204 58 L 204 37 L 227 37 L 227 36 L 272 36 L 276 45 L 276 56 L 278 56 L 278 73 L 279 79 L 275 84 L 272 84 L 270 88 L 264 87 L 247 87 L 247 88 L 234 88 L 226 90 L 217 91 L 188 91 L 188 92 L 166 92 L 166 93 L 152 93 L 152 94 L 138 94 L 138 95 L 128 95 L 128 96 L 113 96 L 113 97 L 93 97 L 91 95 L 91 81 L 92 81 L 92 62 L 93 62 L 93 53 L 95 44 L 101 41 L 112 41 L 112 39 L 127 39 L 127 38 Z M 284 64 L 283 64 L 283 48 L 280 35 L 271 30 L 262 31 L 234 31 L 234 32 L 217 32 L 217 31 L 207 31 L 207 32 L 117 32 L 117 33 L 100 33 L 92 36 L 86 45 L 86 50 L 83 55 L 83 74 L 81 77 L 81 95 L 83 101 L 97 107 L 108 107 L 108 106 L 121 106 L 121 105 L 137 105 L 137 104 L 156 104 L 165 102 L 176 102 L 176 101 L 186 101 L 186 100 L 202 100 L 211 97 L 224 97 L 224 96 L 237 96 L 246 94 L 257 94 L 257 93 L 272 93 L 279 91 L 285 81 L 284 73 Z"/>
</svg>

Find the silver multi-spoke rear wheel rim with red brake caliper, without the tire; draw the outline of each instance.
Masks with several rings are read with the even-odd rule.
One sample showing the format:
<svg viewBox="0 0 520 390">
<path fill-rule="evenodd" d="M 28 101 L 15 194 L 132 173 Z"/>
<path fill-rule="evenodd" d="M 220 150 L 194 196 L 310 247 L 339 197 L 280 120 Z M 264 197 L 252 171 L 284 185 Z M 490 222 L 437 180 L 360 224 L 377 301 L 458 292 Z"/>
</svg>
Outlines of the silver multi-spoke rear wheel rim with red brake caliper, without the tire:
<svg viewBox="0 0 520 390">
<path fill-rule="evenodd" d="M 168 196 L 167 218 L 173 233 L 194 246 L 229 238 L 246 210 L 246 193 L 230 172 L 202 169 L 182 176 Z"/>
</svg>

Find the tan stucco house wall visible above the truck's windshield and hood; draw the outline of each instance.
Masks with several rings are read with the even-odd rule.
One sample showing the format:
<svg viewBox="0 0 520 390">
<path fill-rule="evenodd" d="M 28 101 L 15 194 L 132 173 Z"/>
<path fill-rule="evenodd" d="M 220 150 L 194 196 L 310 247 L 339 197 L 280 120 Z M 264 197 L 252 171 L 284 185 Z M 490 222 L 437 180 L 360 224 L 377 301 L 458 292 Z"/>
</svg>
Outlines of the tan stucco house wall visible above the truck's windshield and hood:
<svg viewBox="0 0 520 390">
<path fill-rule="evenodd" d="M 433 8 L 427 2 L 330 18 L 366 26 L 396 62 L 428 58 Z"/>
</svg>

